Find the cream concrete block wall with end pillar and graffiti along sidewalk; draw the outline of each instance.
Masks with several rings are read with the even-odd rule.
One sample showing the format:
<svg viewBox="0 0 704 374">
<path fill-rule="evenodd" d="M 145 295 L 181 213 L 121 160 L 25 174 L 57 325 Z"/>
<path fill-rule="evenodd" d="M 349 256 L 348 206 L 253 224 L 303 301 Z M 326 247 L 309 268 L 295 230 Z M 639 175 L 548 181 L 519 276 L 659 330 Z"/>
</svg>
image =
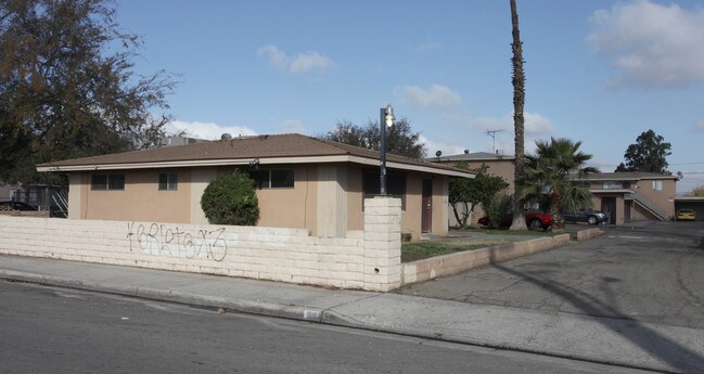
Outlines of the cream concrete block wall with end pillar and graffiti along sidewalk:
<svg viewBox="0 0 704 374">
<path fill-rule="evenodd" d="M 369 199 L 362 231 L 0 216 L 0 254 L 341 288 L 400 284 L 400 199 Z"/>
</svg>

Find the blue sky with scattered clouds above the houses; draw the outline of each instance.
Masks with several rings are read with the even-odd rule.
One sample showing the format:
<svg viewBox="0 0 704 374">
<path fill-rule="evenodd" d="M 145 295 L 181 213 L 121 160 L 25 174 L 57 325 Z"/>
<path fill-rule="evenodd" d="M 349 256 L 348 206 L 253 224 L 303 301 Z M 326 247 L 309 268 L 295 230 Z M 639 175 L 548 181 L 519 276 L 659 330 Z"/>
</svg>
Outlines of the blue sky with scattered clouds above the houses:
<svg viewBox="0 0 704 374">
<path fill-rule="evenodd" d="M 653 129 L 678 192 L 704 184 L 704 1 L 519 0 L 526 150 L 583 142 L 614 171 Z M 391 103 L 428 155 L 513 154 L 509 0 L 118 0 L 143 37 L 137 70 L 166 69 L 170 131 L 219 139 L 366 125 Z"/>
</svg>

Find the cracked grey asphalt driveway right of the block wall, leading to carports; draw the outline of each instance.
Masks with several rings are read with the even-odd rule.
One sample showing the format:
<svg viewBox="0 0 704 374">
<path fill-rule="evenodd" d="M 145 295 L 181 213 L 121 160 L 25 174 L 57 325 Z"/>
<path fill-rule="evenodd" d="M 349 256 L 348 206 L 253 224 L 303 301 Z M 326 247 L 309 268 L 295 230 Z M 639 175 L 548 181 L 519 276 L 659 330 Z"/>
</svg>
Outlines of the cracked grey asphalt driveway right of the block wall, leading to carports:
<svg viewBox="0 0 704 374">
<path fill-rule="evenodd" d="M 401 294 L 704 328 L 704 222 L 636 222 Z"/>
</svg>

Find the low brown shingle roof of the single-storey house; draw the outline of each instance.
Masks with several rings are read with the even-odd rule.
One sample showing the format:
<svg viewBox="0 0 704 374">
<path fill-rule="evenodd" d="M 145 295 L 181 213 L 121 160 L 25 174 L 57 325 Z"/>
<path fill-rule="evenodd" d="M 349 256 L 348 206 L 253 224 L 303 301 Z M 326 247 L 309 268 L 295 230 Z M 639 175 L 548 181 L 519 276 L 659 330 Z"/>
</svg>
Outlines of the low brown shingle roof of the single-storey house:
<svg viewBox="0 0 704 374">
<path fill-rule="evenodd" d="M 209 159 L 266 159 L 273 157 L 316 157 L 350 155 L 379 159 L 379 151 L 310 138 L 302 134 L 241 137 L 213 142 L 116 153 L 102 156 L 46 163 L 38 167 L 72 167 L 91 165 L 138 165 L 163 162 L 192 162 Z M 458 170 L 419 159 L 387 154 L 388 162 Z"/>
</svg>

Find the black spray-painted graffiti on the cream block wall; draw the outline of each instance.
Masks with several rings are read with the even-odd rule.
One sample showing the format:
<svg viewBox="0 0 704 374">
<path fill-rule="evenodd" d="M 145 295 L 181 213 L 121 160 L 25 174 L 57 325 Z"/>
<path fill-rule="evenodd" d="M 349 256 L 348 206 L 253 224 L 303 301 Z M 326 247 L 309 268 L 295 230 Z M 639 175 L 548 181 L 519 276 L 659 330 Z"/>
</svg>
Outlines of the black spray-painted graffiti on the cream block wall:
<svg viewBox="0 0 704 374">
<path fill-rule="evenodd" d="M 150 255 L 167 255 L 185 258 L 208 258 L 218 262 L 228 255 L 228 243 L 222 237 L 225 228 L 213 231 L 199 230 L 195 234 L 182 229 L 165 228 L 157 223 L 127 223 L 129 250 L 137 241 L 140 249 Z"/>
</svg>

